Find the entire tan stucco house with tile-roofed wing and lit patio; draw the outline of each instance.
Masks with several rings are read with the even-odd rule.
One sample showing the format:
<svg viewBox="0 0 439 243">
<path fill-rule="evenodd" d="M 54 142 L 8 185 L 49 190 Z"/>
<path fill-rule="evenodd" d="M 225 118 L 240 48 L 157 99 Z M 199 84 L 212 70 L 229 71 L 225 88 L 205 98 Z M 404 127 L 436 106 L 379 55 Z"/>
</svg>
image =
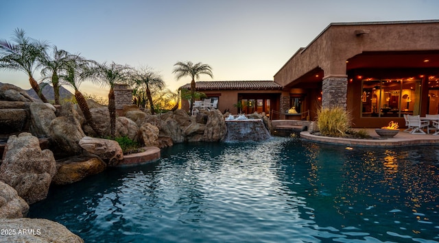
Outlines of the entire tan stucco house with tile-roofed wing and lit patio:
<svg viewBox="0 0 439 243">
<path fill-rule="evenodd" d="M 274 81 L 196 86 L 232 113 L 238 112 L 233 104 L 242 103 L 245 113 L 307 118 L 289 114 L 294 107 L 314 120 L 320 107 L 342 106 L 353 127 L 381 127 L 391 120 L 403 126 L 404 114 L 439 114 L 439 20 L 331 23 L 294 53 Z"/>
</svg>

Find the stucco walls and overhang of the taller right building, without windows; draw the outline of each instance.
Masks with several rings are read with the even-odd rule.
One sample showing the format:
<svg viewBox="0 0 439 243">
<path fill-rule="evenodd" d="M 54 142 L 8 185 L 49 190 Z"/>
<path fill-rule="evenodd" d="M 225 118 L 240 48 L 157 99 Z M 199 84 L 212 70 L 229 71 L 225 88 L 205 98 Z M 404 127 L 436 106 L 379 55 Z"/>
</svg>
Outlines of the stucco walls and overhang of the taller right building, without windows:
<svg viewBox="0 0 439 243">
<path fill-rule="evenodd" d="M 290 93 L 295 88 L 307 89 L 311 119 L 316 118 L 313 111 L 319 108 L 314 104 L 333 96 L 325 96 L 322 81 L 327 85 L 332 80 L 345 80 L 344 107 L 351 112 L 354 127 L 381 127 L 390 120 L 403 125 L 401 117 L 361 117 L 361 76 L 422 79 L 420 115 L 425 115 L 428 77 L 439 77 L 439 21 L 332 23 L 307 47 L 299 49 L 274 75 L 274 81 Z M 327 103 L 337 102 L 340 99 Z"/>
</svg>

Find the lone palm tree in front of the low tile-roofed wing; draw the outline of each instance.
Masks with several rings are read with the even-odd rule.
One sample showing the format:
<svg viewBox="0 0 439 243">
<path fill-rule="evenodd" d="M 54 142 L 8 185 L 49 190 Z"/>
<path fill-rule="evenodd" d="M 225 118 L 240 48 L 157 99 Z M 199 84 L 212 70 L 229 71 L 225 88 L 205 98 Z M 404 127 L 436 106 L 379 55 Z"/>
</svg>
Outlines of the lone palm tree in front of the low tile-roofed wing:
<svg viewBox="0 0 439 243">
<path fill-rule="evenodd" d="M 177 62 L 174 64 L 175 68 L 172 73 L 176 74 L 177 80 L 190 76 L 192 78 L 191 81 L 191 106 L 189 108 L 189 114 L 192 114 L 193 101 L 195 99 L 195 79 L 200 79 L 200 75 L 205 74 L 209 75 L 213 78 L 212 68 L 208 64 L 202 64 L 198 62 L 197 64 L 193 64 L 190 61 L 187 62 Z"/>
</svg>

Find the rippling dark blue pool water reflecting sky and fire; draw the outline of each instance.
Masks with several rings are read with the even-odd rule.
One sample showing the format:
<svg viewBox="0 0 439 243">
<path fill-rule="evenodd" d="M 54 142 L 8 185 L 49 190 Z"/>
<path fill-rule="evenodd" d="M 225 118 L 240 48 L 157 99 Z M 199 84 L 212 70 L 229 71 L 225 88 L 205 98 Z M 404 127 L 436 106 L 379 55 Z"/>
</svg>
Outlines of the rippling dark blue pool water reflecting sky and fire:
<svg viewBox="0 0 439 243">
<path fill-rule="evenodd" d="M 438 146 L 176 144 L 52 188 L 29 216 L 85 242 L 435 242 L 438 166 Z"/>
</svg>

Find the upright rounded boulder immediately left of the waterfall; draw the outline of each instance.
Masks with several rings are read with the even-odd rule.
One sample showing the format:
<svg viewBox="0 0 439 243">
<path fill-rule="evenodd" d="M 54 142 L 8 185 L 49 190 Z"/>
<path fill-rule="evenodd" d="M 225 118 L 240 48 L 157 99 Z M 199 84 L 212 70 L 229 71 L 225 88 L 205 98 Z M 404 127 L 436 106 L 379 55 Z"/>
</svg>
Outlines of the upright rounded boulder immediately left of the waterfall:
<svg viewBox="0 0 439 243">
<path fill-rule="evenodd" d="M 217 142 L 223 140 L 227 133 L 226 122 L 219 110 L 212 110 L 204 129 L 204 141 Z"/>
</svg>

